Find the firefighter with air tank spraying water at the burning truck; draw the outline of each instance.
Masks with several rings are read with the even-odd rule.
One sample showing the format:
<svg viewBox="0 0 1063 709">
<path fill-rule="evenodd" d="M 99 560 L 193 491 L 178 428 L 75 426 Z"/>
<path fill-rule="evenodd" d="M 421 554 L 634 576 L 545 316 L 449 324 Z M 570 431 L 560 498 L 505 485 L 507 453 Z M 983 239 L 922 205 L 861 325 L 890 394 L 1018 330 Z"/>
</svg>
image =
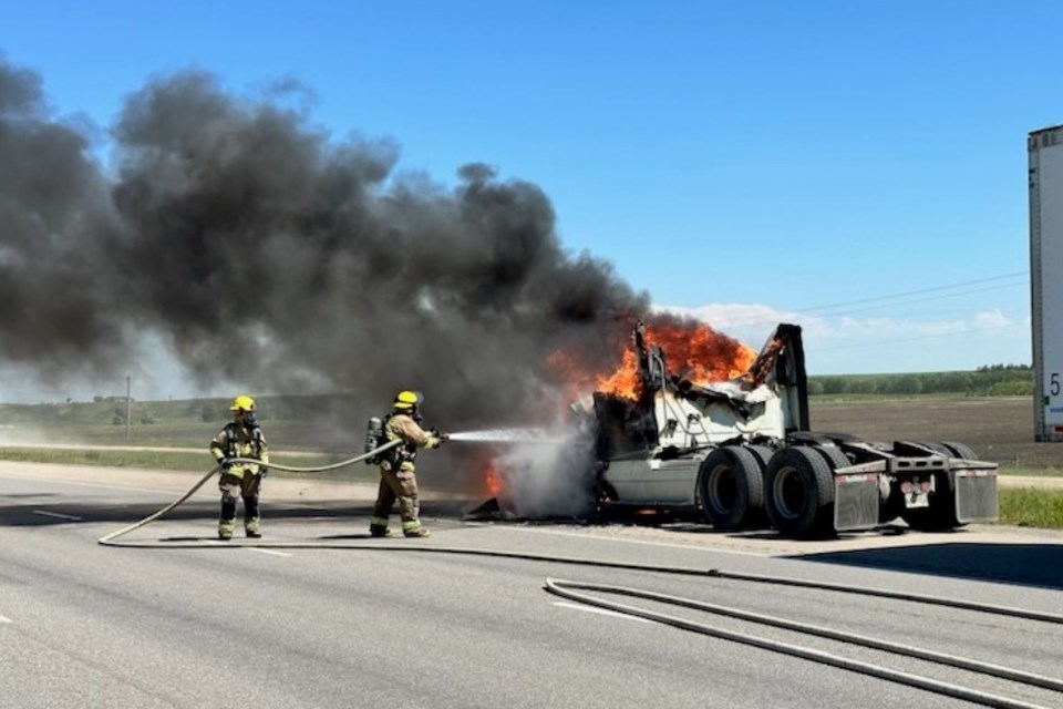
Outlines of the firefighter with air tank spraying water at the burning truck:
<svg viewBox="0 0 1063 709">
<path fill-rule="evenodd" d="M 421 524 L 414 459 L 417 456 L 417 449 L 438 448 L 447 440 L 447 435 L 421 428 L 422 401 L 420 392 L 400 391 L 395 395 L 391 413 L 384 417 L 383 442 L 401 440 L 402 443 L 380 454 L 380 490 L 376 493 L 376 504 L 373 505 L 373 516 L 369 521 L 371 536 L 391 536 L 388 517 L 396 501 L 404 536 L 421 537 L 431 534 Z"/>
</svg>

